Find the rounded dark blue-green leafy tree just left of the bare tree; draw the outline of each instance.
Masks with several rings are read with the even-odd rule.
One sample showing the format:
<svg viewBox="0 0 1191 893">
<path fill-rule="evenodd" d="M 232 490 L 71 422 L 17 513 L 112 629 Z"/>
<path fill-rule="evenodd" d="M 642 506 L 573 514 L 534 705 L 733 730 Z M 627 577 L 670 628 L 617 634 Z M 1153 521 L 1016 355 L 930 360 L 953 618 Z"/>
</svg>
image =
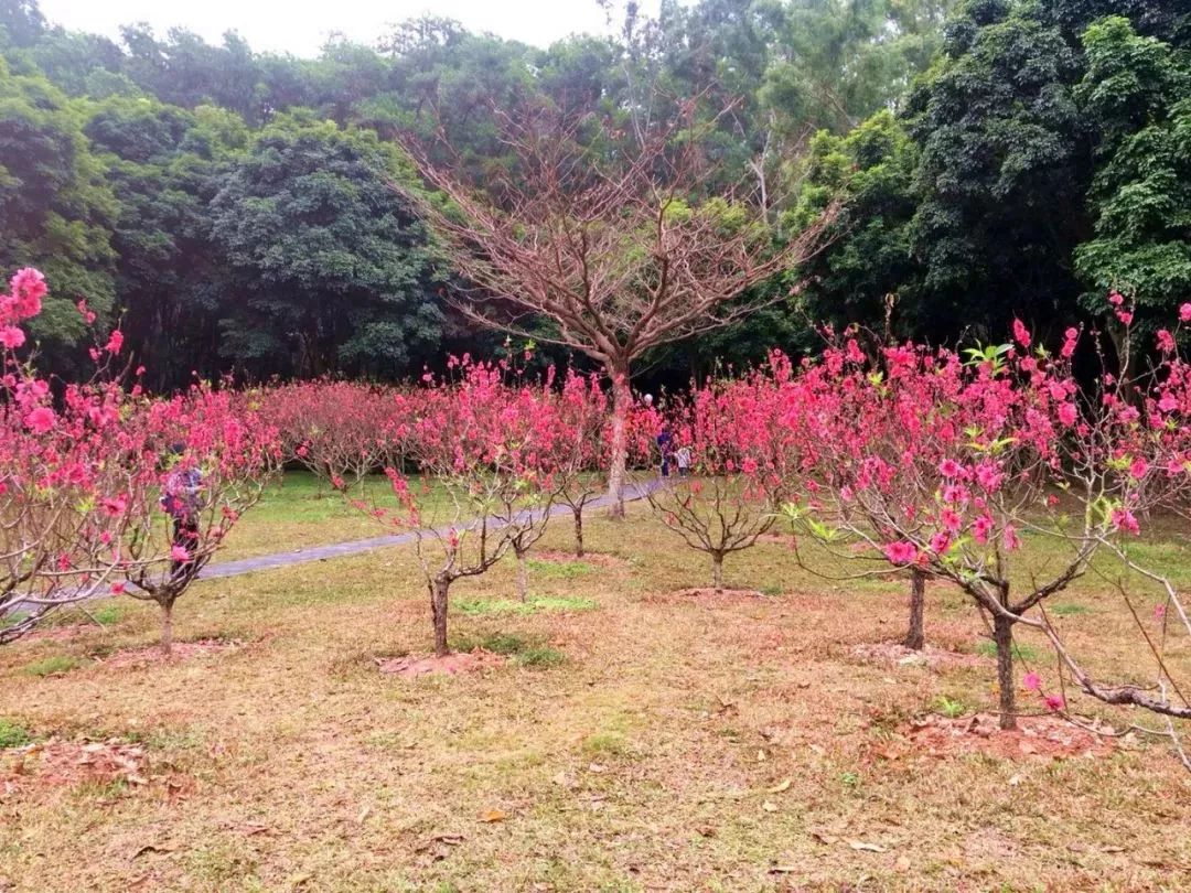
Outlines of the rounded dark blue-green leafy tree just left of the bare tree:
<svg viewBox="0 0 1191 893">
<path fill-rule="evenodd" d="M 442 311 L 426 233 L 374 133 L 281 117 L 222 180 L 212 233 L 237 300 L 223 350 L 258 375 L 397 376 L 432 351 Z"/>
</svg>

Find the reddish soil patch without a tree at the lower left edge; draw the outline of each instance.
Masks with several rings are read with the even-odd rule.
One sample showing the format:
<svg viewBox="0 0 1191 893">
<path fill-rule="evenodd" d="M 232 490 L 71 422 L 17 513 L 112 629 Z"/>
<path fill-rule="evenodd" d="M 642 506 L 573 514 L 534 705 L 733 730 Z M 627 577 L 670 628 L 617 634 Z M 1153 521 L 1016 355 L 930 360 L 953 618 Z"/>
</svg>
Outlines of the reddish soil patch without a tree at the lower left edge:
<svg viewBox="0 0 1191 893">
<path fill-rule="evenodd" d="M 48 786 L 75 787 L 92 782 L 125 781 L 148 785 L 144 748 L 118 738 L 96 742 L 50 738 L 4 751 L 0 791 L 11 794 L 37 781 Z"/>
</svg>

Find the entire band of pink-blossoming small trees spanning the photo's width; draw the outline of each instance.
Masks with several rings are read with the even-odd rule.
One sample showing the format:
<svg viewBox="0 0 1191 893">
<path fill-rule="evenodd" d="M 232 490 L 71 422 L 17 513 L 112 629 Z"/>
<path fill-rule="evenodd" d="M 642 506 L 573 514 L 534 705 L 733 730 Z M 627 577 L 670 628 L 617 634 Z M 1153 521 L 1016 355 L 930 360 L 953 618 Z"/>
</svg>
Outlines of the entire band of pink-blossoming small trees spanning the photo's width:
<svg viewBox="0 0 1191 893">
<path fill-rule="evenodd" d="M 582 552 L 584 508 L 610 452 L 640 468 L 662 448 L 671 474 L 646 495 L 709 556 L 717 591 L 728 555 L 788 523 L 811 569 L 822 552 L 806 541 L 858 573 L 909 575 L 912 647 L 927 580 L 966 594 L 996 647 L 1005 729 L 1021 712 L 1021 627 L 1054 656 L 1019 677 L 1041 706 L 1067 713 L 1078 691 L 1142 708 L 1177 744 L 1174 722 L 1191 718 L 1165 651 L 1172 625 L 1191 635 L 1191 616 L 1133 548 L 1154 516 L 1191 513 L 1191 366 L 1178 355 L 1191 304 L 1143 336 L 1114 293 L 1110 331 L 1068 329 L 1053 349 L 1019 321 L 1006 343 L 965 350 L 824 330 L 816 356 L 774 351 L 665 405 L 634 402 L 616 421 L 599 377 L 467 355 L 412 386 L 197 382 L 155 398 L 111 373 L 114 331 L 91 351 L 91 381 L 45 380 L 24 330 L 45 293 L 24 269 L 0 298 L 0 642 L 56 607 L 127 593 L 160 606 L 168 654 L 174 604 L 288 461 L 412 533 L 443 657 L 454 582 L 512 556 L 525 599 L 526 555 L 553 517 L 572 516 Z M 77 312 L 93 321 L 86 304 Z M 1077 377 L 1077 355 L 1099 357 L 1098 374 Z M 1048 612 L 1105 563 L 1145 645 L 1120 677 L 1091 669 Z M 1139 580 L 1145 598 L 1162 598 L 1149 612 L 1130 588 Z"/>
</svg>

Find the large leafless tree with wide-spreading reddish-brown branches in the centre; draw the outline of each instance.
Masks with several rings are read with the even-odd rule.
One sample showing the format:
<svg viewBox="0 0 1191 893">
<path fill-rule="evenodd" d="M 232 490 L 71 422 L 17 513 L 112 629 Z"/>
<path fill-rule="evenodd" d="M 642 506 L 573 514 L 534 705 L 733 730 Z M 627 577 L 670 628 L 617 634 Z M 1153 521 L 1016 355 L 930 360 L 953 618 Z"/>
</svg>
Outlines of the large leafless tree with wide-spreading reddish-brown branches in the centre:
<svg viewBox="0 0 1191 893">
<path fill-rule="evenodd" d="M 791 235 L 769 225 L 755 189 L 700 198 L 710 169 L 700 151 L 707 125 L 696 123 L 703 99 L 679 102 L 671 121 L 637 138 L 591 113 L 498 111 L 512 163 L 486 182 L 410 146 L 449 199 L 412 195 L 468 283 L 456 306 L 484 325 L 585 354 L 611 380 L 613 517 L 624 513 L 634 361 L 796 292 L 755 287 L 812 256 L 835 211 Z M 750 289 L 755 296 L 742 298 Z"/>
</svg>

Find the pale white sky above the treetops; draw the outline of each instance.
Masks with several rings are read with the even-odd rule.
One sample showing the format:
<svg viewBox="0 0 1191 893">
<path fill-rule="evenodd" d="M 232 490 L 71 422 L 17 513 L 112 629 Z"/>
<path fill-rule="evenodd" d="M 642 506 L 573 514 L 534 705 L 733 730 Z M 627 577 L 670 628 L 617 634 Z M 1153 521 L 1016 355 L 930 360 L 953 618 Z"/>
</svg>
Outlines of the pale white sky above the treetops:
<svg viewBox="0 0 1191 893">
<path fill-rule="evenodd" d="M 40 0 L 40 7 L 71 31 L 117 38 L 120 25 L 148 21 L 158 37 L 181 25 L 219 43 L 233 30 L 254 50 L 295 56 L 317 55 L 335 31 L 370 45 L 389 24 L 426 12 L 537 46 L 570 33 L 609 33 L 624 18 L 623 0 L 612 2 L 611 26 L 596 0 Z M 656 14 L 657 0 L 641 7 Z"/>
</svg>

